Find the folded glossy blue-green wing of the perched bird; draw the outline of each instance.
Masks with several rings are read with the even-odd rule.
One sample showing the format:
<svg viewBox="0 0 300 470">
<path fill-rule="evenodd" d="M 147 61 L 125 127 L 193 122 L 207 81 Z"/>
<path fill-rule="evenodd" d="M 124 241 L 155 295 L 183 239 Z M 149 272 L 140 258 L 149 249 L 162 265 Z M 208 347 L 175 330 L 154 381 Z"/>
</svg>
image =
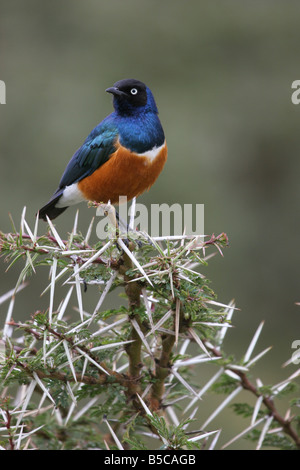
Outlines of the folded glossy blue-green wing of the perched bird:
<svg viewBox="0 0 300 470">
<path fill-rule="evenodd" d="M 59 189 L 91 175 L 109 159 L 115 148 L 117 129 L 95 128 L 84 144 L 74 153 L 59 183 Z"/>
</svg>

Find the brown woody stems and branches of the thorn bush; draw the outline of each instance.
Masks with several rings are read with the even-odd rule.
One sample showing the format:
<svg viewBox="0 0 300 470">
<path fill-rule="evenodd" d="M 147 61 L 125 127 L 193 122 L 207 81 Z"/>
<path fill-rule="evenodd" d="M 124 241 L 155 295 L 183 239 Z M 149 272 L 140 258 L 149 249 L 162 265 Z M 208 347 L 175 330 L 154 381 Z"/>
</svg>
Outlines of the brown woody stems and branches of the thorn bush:
<svg viewBox="0 0 300 470">
<path fill-rule="evenodd" d="M 66 258 L 70 261 L 69 268 L 72 270 L 75 264 L 77 266 L 82 266 L 83 264 L 87 263 L 89 257 L 92 256 L 91 253 L 97 253 L 95 248 L 88 245 L 86 241 L 73 241 L 72 240 L 72 248 L 74 251 L 82 250 L 83 255 L 76 253 L 76 255 L 72 254 L 72 250 L 66 248 L 66 250 L 61 249 L 61 244 L 56 239 L 55 236 L 51 235 L 50 232 L 43 237 L 43 240 L 46 242 L 42 243 L 41 246 L 38 243 L 28 243 L 26 241 L 32 242 L 32 236 L 28 234 L 22 234 L 22 236 L 18 233 L 12 234 L 3 234 L 0 232 L 0 253 L 7 254 L 8 257 L 11 254 L 15 256 L 29 256 L 26 253 L 32 253 L 37 255 L 45 255 L 46 257 L 52 257 L 53 251 L 55 251 L 55 256 L 57 258 Z M 69 247 L 68 240 L 60 240 L 65 247 Z M 47 247 L 47 243 L 49 247 Z M 179 259 L 180 256 L 185 253 L 190 253 L 198 250 L 199 248 L 203 250 L 203 255 L 205 254 L 205 249 L 213 246 L 216 247 L 219 252 L 222 254 L 221 247 L 226 246 L 228 244 L 228 239 L 225 234 L 220 234 L 215 236 L 214 234 L 210 237 L 210 239 L 206 241 L 199 241 L 198 237 L 195 237 L 191 241 L 187 241 L 187 244 L 184 246 L 182 250 L 177 249 L 176 253 L 174 254 L 174 259 Z M 55 247 L 53 250 L 53 246 Z M 118 272 L 119 277 L 123 279 L 123 285 L 125 288 L 125 293 L 128 298 L 128 325 L 129 328 L 129 340 L 130 343 L 124 344 L 124 350 L 127 355 L 128 359 L 128 372 L 127 373 L 120 373 L 115 370 L 114 367 L 108 367 L 104 361 L 100 361 L 96 354 L 94 354 L 91 349 L 92 345 L 89 343 L 88 345 L 80 343 L 80 349 L 85 354 L 85 356 L 89 357 L 95 364 L 97 364 L 102 370 L 97 368 L 97 375 L 94 373 L 95 368 L 93 368 L 93 374 L 89 373 L 79 373 L 76 372 L 75 369 L 71 373 L 71 371 L 63 372 L 59 369 L 54 369 L 49 366 L 49 364 L 45 363 L 45 367 L 34 367 L 33 369 L 29 366 L 26 360 L 23 360 L 22 356 L 22 347 L 17 344 L 6 344 L 6 349 L 12 348 L 15 352 L 14 357 L 11 360 L 14 360 L 15 365 L 17 365 L 20 369 L 26 372 L 30 377 L 34 377 L 34 373 L 38 376 L 39 379 L 56 379 L 63 383 L 74 383 L 78 382 L 80 384 L 86 385 L 109 385 L 112 383 L 119 384 L 123 387 L 124 393 L 127 398 L 127 403 L 132 406 L 132 409 L 139 415 L 145 416 L 145 409 L 141 405 L 140 400 L 138 400 L 138 395 L 142 396 L 144 393 L 144 400 L 147 406 L 149 406 L 151 412 L 156 412 L 159 415 L 163 415 L 165 412 L 165 404 L 164 404 L 164 395 L 166 389 L 166 382 L 169 375 L 172 373 L 172 367 L 174 365 L 173 355 L 174 355 L 174 346 L 178 342 L 178 337 L 184 337 L 185 339 L 189 339 L 195 341 L 194 337 L 187 332 L 192 326 L 191 319 L 189 315 L 186 315 L 184 311 L 184 303 L 181 299 L 181 279 L 176 266 L 168 265 L 169 260 L 162 256 L 161 262 L 165 265 L 166 271 L 170 275 L 170 283 L 171 288 L 168 292 L 164 292 L 162 297 L 166 302 L 166 308 L 170 309 L 169 311 L 172 313 L 172 331 L 165 330 L 164 332 L 157 332 L 156 334 L 156 341 L 157 344 L 155 346 L 155 351 L 152 353 L 150 351 L 150 358 L 151 358 L 151 368 L 149 367 L 148 373 L 150 378 L 150 383 L 143 382 L 145 374 L 142 370 L 145 370 L 145 364 L 143 361 L 145 360 L 144 354 L 144 347 L 148 344 L 145 340 L 147 333 L 150 330 L 149 322 L 145 320 L 147 315 L 145 312 L 142 312 L 143 307 L 141 303 L 142 298 L 142 290 L 145 286 L 147 286 L 145 279 L 142 277 L 141 280 L 141 273 L 139 270 L 136 270 L 136 274 L 132 274 L 134 272 L 135 266 L 132 262 L 132 258 L 130 253 L 134 251 L 134 245 L 132 242 L 129 243 L 128 248 L 130 252 L 122 252 L 119 253 L 119 256 L 116 258 L 109 257 L 105 258 L 99 256 L 97 258 L 93 258 L 90 264 L 93 265 L 102 265 L 106 268 L 113 269 L 114 271 Z M 85 252 L 85 250 L 89 250 L 89 252 Z M 129 254 L 128 254 L 129 253 Z M 185 260 L 186 262 L 186 260 Z M 49 259 L 49 264 L 51 265 L 51 259 Z M 155 262 L 152 261 L 154 264 Z M 155 272 L 155 271 L 154 271 Z M 161 276 L 162 271 L 158 271 L 159 276 Z M 192 271 L 191 271 L 192 272 Z M 153 273 L 151 273 L 152 275 Z M 161 278 L 158 276 L 158 280 L 160 281 Z M 109 290 L 109 289 L 108 289 Z M 151 288 L 152 294 L 155 293 L 155 287 Z M 189 301 L 197 302 L 197 295 L 188 295 Z M 202 302 L 202 306 L 205 305 L 206 298 Z M 141 314 L 142 312 L 142 314 Z M 218 321 L 220 316 L 218 317 Z M 222 321 L 222 320 L 221 320 Z M 44 334 L 49 335 L 52 338 L 56 338 L 59 341 L 66 342 L 68 347 L 74 354 L 78 354 L 78 349 L 76 347 L 76 342 L 74 341 L 72 336 L 68 336 L 68 334 L 64 334 L 61 331 L 58 331 L 56 327 L 53 327 L 51 324 L 44 325 L 44 330 L 42 333 L 41 330 L 37 331 L 33 324 L 26 323 L 17 323 L 13 320 L 8 322 L 10 326 L 22 328 L 25 330 L 29 335 L 34 337 L 38 341 L 42 341 Z M 199 339 L 199 341 L 201 341 Z M 216 358 L 222 358 L 222 353 L 220 350 L 211 345 L 205 338 L 202 338 L 203 344 L 207 345 L 207 349 L 210 350 L 210 353 Z M 35 356 L 38 353 L 38 350 L 32 348 L 29 353 L 32 356 Z M 93 367 L 93 366 L 92 366 Z M 244 388 L 244 390 L 249 391 L 256 397 L 262 397 L 262 402 L 267 408 L 270 416 L 274 418 L 276 422 L 280 424 L 282 427 L 283 432 L 288 435 L 295 445 L 300 448 L 300 436 L 298 436 L 296 430 L 292 427 L 292 419 L 283 418 L 279 412 L 277 411 L 274 401 L 271 396 L 263 394 L 257 387 L 255 387 L 249 380 L 246 372 L 242 370 L 238 370 L 237 368 L 230 368 L 228 366 L 228 370 L 231 370 L 240 378 L 240 384 Z M 145 389 L 145 383 L 148 387 Z M 6 420 L 6 427 L 8 431 L 10 430 L 11 426 L 11 416 L 9 411 L 6 413 L 7 420 Z M 117 424 L 117 427 L 121 427 L 120 424 Z M 159 432 L 153 427 L 153 425 L 148 420 L 148 427 L 149 429 L 156 433 L 159 436 Z M 12 435 L 9 436 L 9 445 L 10 448 L 14 448 L 14 440 Z"/>
</svg>

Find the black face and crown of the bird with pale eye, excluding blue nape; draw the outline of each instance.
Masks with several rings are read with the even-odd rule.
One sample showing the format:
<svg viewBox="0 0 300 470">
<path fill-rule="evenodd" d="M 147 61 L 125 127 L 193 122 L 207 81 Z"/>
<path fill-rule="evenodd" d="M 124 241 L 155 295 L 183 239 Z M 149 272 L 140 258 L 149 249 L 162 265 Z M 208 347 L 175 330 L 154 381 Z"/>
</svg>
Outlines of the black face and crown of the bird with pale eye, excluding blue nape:
<svg viewBox="0 0 300 470">
<path fill-rule="evenodd" d="M 128 78 L 119 80 L 111 88 L 105 91 L 114 96 L 114 105 L 116 108 L 137 108 L 147 104 L 147 87 L 143 82 Z M 150 91 L 150 90 L 149 90 Z"/>
</svg>

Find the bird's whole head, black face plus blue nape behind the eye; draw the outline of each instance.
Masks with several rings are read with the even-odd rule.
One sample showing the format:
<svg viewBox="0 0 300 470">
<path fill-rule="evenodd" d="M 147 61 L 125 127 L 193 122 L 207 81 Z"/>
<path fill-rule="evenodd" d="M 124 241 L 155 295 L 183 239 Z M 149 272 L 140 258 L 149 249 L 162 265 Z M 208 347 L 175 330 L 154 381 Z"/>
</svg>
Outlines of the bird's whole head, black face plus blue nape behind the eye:
<svg viewBox="0 0 300 470">
<path fill-rule="evenodd" d="M 151 90 L 139 80 L 119 80 L 105 91 L 113 95 L 114 108 L 120 114 L 132 115 L 141 111 L 158 114 Z"/>
</svg>

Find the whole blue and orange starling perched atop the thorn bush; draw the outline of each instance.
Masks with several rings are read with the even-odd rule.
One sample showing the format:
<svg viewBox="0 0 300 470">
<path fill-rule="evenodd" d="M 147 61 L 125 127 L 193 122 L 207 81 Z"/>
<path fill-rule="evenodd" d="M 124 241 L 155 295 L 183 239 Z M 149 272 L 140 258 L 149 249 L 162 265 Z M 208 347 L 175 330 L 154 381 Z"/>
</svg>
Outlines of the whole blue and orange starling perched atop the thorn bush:
<svg viewBox="0 0 300 470">
<path fill-rule="evenodd" d="M 114 111 L 70 159 L 57 190 L 39 210 L 45 221 L 83 201 L 129 201 L 149 190 L 166 163 L 166 138 L 150 88 L 123 79 L 105 91 L 113 95 Z"/>
</svg>

